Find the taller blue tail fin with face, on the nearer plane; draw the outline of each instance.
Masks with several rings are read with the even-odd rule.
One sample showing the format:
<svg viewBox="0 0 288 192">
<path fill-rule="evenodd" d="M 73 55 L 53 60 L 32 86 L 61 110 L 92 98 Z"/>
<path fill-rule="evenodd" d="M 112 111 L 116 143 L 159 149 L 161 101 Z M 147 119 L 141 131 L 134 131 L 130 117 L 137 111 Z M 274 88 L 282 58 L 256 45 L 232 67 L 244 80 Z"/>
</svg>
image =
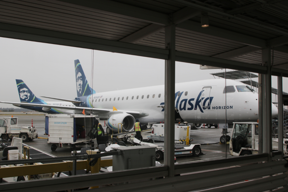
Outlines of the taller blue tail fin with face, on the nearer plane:
<svg viewBox="0 0 288 192">
<path fill-rule="evenodd" d="M 95 90 L 90 88 L 79 59 L 74 60 L 74 63 L 75 63 L 77 97 L 96 93 Z"/>
</svg>

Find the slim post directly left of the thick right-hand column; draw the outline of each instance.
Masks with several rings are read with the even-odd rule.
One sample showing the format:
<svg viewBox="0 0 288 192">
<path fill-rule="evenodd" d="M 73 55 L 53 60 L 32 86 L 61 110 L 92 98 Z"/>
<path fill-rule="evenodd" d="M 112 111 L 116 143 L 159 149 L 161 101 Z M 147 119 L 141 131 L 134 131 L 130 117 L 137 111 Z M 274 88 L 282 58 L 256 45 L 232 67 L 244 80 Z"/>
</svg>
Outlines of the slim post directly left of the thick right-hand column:
<svg viewBox="0 0 288 192">
<path fill-rule="evenodd" d="M 258 153 L 263 153 L 262 74 L 258 74 Z"/>
</svg>

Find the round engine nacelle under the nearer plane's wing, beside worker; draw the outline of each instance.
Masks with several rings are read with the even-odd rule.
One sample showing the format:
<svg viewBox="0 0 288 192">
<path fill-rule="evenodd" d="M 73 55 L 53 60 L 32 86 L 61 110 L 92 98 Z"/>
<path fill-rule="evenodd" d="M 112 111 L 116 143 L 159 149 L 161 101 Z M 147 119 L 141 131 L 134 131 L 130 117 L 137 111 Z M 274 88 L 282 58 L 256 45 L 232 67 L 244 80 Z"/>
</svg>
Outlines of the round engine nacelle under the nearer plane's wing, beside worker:
<svg viewBox="0 0 288 192">
<path fill-rule="evenodd" d="M 116 113 L 112 115 L 107 122 L 107 126 L 114 132 L 118 132 L 118 123 L 122 124 L 122 131 L 131 131 L 134 129 L 135 118 L 128 113 Z M 121 132 L 121 125 L 119 124 L 119 133 Z"/>
</svg>

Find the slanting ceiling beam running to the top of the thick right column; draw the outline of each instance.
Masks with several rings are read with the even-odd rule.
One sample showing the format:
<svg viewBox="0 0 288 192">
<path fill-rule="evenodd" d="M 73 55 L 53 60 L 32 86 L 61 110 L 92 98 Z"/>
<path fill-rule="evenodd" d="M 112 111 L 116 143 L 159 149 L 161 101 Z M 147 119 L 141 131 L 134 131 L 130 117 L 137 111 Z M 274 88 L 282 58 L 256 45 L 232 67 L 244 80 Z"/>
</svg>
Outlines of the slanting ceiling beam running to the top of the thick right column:
<svg viewBox="0 0 288 192">
<path fill-rule="evenodd" d="M 216 57 L 216 58 L 222 58 L 222 59 L 230 59 L 230 58 L 234 58 L 234 57 L 238 57 L 241 55 L 246 55 L 249 53 L 253 53 L 255 51 L 259 51 L 261 50 L 261 48 L 259 47 L 252 47 L 252 46 L 245 46 L 245 47 L 240 47 L 238 49 L 233 49 L 231 51 L 227 51 L 225 53 L 221 53 L 221 54 L 217 54 L 214 55 L 212 57 Z"/>
</svg>

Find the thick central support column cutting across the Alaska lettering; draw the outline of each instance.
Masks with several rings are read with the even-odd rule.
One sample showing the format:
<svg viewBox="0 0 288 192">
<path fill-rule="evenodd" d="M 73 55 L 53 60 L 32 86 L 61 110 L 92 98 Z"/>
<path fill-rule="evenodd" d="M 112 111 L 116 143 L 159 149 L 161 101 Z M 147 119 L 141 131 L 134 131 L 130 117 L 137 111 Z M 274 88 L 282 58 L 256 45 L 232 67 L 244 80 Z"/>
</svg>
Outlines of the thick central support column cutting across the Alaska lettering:
<svg viewBox="0 0 288 192">
<path fill-rule="evenodd" d="M 169 59 L 165 60 L 165 153 L 164 165 L 168 166 L 168 176 L 174 177 L 175 140 L 175 24 L 165 27 L 165 48 L 169 49 Z"/>
</svg>

